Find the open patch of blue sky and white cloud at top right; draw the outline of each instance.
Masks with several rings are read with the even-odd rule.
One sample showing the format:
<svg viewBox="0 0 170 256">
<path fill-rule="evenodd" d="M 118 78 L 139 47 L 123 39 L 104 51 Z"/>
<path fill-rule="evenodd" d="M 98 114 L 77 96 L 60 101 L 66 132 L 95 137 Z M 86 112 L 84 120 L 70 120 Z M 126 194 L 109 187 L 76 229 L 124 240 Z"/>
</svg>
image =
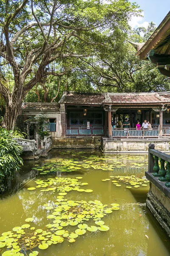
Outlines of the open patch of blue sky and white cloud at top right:
<svg viewBox="0 0 170 256">
<path fill-rule="evenodd" d="M 130 2 L 136 2 L 140 9 L 143 10 L 142 17 L 132 17 L 129 24 L 132 28 L 144 26 L 147 28 L 148 23 L 153 21 L 156 27 L 159 26 L 161 21 L 170 11 L 170 0 L 130 0 Z"/>
</svg>

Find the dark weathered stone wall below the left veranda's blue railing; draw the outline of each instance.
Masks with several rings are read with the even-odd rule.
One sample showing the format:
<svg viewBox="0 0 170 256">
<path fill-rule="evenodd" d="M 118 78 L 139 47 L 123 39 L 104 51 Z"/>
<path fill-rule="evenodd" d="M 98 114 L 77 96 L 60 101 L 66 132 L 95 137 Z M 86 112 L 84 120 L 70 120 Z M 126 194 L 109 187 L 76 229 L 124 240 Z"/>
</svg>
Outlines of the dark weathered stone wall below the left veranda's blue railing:
<svg viewBox="0 0 170 256">
<path fill-rule="evenodd" d="M 63 137 L 53 139 L 53 148 L 100 148 L 101 138 L 94 137 Z"/>
</svg>

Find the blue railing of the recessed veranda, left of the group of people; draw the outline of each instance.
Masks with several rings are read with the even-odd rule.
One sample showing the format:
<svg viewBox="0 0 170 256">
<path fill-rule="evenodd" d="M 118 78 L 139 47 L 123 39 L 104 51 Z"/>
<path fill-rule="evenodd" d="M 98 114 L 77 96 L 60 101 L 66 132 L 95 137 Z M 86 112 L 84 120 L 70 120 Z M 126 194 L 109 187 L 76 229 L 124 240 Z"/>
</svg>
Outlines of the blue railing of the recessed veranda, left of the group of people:
<svg viewBox="0 0 170 256">
<path fill-rule="evenodd" d="M 101 136 L 104 135 L 104 128 L 68 128 L 67 136 Z"/>
</svg>

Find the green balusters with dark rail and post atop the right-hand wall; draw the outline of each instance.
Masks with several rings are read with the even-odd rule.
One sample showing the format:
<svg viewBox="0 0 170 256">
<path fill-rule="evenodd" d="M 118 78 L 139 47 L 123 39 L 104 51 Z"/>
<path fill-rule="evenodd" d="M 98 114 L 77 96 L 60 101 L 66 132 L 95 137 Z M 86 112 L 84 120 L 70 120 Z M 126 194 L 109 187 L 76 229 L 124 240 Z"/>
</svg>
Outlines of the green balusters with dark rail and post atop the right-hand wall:
<svg viewBox="0 0 170 256">
<path fill-rule="evenodd" d="M 160 182 L 165 182 L 165 186 L 170 188 L 170 155 L 155 150 L 153 144 L 149 146 L 148 172 L 151 172 L 153 177 L 158 177 Z"/>
</svg>

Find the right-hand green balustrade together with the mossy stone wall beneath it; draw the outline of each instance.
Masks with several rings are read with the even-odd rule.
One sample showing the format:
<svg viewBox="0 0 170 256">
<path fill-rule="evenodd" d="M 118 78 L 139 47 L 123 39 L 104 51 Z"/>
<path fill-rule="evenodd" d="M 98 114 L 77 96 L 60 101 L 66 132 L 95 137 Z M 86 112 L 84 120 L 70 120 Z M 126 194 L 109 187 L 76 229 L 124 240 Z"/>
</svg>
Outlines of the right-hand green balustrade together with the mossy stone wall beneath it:
<svg viewBox="0 0 170 256">
<path fill-rule="evenodd" d="M 164 231 L 170 236 L 170 155 L 149 145 L 148 172 L 150 181 L 146 205 Z"/>
</svg>

